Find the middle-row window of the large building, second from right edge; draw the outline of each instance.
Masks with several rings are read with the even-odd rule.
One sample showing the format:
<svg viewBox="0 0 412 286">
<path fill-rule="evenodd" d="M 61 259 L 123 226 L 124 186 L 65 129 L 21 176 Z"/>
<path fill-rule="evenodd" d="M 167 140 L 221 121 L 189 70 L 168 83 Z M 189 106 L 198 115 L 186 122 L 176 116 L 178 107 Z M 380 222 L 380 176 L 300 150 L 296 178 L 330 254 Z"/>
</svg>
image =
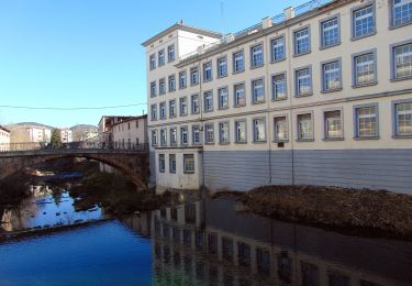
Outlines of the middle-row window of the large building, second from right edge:
<svg viewBox="0 0 412 286">
<path fill-rule="evenodd" d="M 376 82 L 375 53 L 354 56 L 354 86 L 368 86 Z"/>
</svg>

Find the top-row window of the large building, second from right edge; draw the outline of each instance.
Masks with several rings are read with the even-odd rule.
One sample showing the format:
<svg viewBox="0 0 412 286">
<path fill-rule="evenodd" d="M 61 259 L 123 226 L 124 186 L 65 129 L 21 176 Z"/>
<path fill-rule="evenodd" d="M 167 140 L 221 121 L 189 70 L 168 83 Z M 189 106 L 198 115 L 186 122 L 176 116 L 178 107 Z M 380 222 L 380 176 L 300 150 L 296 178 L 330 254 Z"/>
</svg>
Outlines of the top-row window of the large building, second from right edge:
<svg viewBox="0 0 412 286">
<path fill-rule="evenodd" d="M 352 37 L 358 38 L 375 33 L 375 6 L 353 10 Z"/>
</svg>

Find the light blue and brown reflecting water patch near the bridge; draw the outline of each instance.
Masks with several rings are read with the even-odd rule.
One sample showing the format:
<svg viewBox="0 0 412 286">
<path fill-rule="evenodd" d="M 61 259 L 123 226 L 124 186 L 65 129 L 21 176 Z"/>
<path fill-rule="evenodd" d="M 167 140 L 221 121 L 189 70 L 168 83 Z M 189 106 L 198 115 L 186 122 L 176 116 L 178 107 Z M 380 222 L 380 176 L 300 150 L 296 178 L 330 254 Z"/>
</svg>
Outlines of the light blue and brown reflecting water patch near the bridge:
<svg viewBox="0 0 412 286">
<path fill-rule="evenodd" d="M 75 199 L 68 193 L 69 188 L 70 184 L 53 187 L 45 184 L 30 186 L 31 197 L 18 207 L 0 209 L 0 232 L 74 224 L 103 217 L 99 207 L 88 211 L 76 211 Z"/>
</svg>

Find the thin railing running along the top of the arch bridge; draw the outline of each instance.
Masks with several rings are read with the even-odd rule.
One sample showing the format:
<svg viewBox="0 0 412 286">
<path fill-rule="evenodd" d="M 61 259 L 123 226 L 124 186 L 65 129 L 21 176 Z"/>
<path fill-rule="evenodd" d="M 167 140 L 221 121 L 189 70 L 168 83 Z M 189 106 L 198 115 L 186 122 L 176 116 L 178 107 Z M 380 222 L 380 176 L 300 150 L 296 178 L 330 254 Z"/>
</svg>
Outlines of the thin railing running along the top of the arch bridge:
<svg viewBox="0 0 412 286">
<path fill-rule="evenodd" d="M 1 143 L 0 152 L 18 152 L 18 151 L 55 151 L 55 150 L 88 150 L 88 148 L 100 148 L 100 150 L 119 150 L 119 151 L 148 151 L 148 143 L 124 143 L 124 144 L 111 144 L 111 143 L 99 143 L 99 142 L 70 142 L 60 144 L 51 144 L 43 142 L 25 142 L 25 143 Z"/>
</svg>

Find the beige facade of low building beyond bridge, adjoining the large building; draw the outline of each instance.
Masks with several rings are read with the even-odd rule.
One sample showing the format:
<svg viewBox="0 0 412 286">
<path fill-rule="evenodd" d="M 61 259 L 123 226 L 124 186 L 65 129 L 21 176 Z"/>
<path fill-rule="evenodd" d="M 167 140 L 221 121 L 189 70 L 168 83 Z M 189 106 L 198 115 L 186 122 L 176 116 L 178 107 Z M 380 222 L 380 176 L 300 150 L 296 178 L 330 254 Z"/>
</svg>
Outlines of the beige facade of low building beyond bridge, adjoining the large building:
<svg viewBox="0 0 412 286">
<path fill-rule="evenodd" d="M 147 143 L 147 114 L 111 125 L 114 148 L 138 150 Z"/>
</svg>

